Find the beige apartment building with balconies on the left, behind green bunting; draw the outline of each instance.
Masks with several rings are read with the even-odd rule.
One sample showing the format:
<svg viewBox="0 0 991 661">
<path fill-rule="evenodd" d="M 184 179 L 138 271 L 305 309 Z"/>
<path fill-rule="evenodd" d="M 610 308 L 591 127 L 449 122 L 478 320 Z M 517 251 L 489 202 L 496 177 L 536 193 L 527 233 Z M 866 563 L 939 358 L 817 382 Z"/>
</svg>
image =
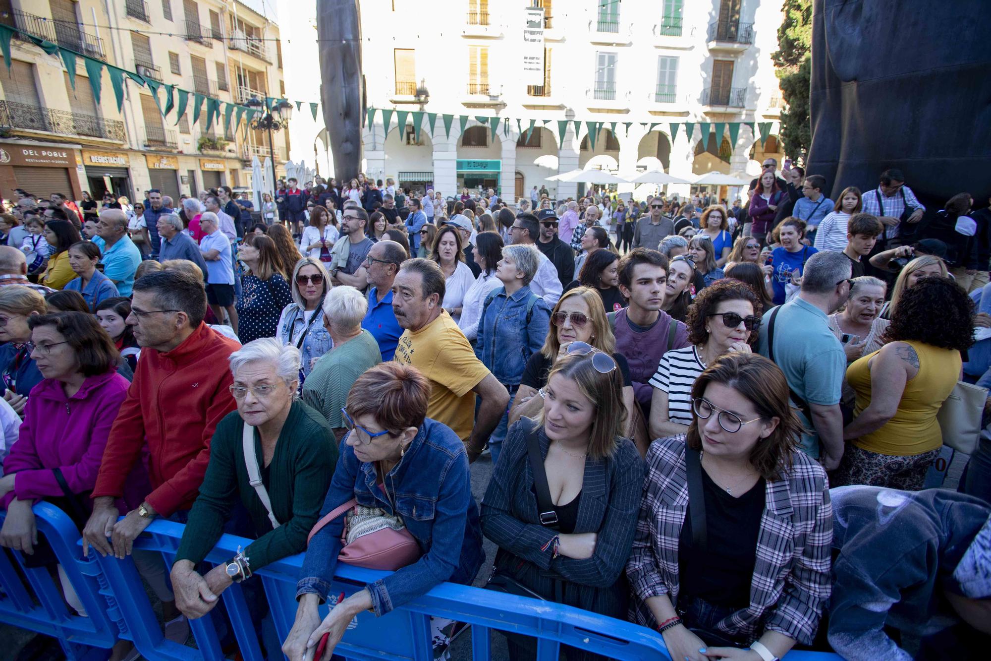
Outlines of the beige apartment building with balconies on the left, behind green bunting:
<svg viewBox="0 0 991 661">
<path fill-rule="evenodd" d="M 0 22 L 221 102 L 284 94 L 278 27 L 235 0 L 0 0 Z M 189 111 L 165 118 L 150 90 L 133 82 L 118 110 L 106 72 L 97 102 L 81 60 L 73 89 L 57 54 L 19 36 L 11 43 L 12 66 L 0 66 L 4 197 L 23 188 L 133 200 L 157 188 L 177 200 L 251 186 L 252 157 L 273 151 L 276 173 L 284 170 L 285 132 L 275 133 L 273 150 L 267 134 L 244 123 L 225 133 L 222 123 L 207 127 L 204 115 L 190 125 Z"/>
</svg>

